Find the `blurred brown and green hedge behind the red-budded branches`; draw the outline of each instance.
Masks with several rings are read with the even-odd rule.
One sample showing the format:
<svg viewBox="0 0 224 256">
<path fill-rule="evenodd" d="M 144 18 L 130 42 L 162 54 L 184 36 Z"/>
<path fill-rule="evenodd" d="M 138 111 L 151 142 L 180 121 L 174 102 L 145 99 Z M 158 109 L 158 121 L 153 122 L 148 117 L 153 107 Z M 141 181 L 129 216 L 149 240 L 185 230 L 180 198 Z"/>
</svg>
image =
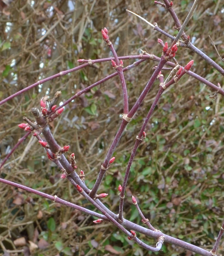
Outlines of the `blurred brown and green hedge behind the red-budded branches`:
<svg viewBox="0 0 224 256">
<path fill-rule="evenodd" d="M 174 1 L 181 22 L 192 2 Z M 111 56 L 101 38 L 100 30 L 104 27 L 108 28 L 118 55 L 138 54 L 142 49 L 160 56 L 157 39 L 169 44 L 170 40 L 126 9 L 176 34 L 170 14 L 155 6 L 154 1 L 12 1 L 1 10 L 0 16 L 0 100 L 38 80 L 77 66 L 79 58 Z M 201 1 L 186 29 L 194 44 L 221 66 L 223 63 L 208 35 L 222 56 L 223 10 L 222 1 Z M 197 74 L 222 86 L 221 75 L 196 54 L 180 48 L 176 59 L 181 65 L 194 59 Z M 125 60 L 124 66 L 131 63 Z M 125 73 L 130 108 L 154 65 L 149 60 Z M 110 63 L 98 63 L 46 82 L 0 106 L 1 159 L 24 135 L 17 124 L 23 116 L 31 117 L 30 108 L 39 106 L 43 96 L 53 97 L 61 90 L 63 102 L 112 72 Z M 168 76 L 168 71 L 164 71 L 164 76 Z M 118 211 L 118 185 L 122 184 L 136 134 L 157 90 L 158 83 L 127 127 L 115 152 L 116 161 L 100 188 L 101 192 L 109 193 L 104 202 L 114 212 Z M 213 94 L 204 84 L 185 76 L 162 95 L 148 124 L 147 138 L 132 165 L 124 205 L 125 218 L 141 224 L 131 202 L 134 194 L 155 228 L 208 250 L 214 244 L 224 213 L 224 105 L 220 95 L 215 100 L 209 98 Z M 119 79 L 114 78 L 71 102 L 51 124 L 58 143 L 69 144 L 71 152 L 75 152 L 78 171 L 84 170 L 90 188 L 120 125 L 122 107 L 122 89 Z M 14 152 L 2 168 L 1 177 L 95 210 L 67 180 L 60 179 L 60 171 L 35 138 L 28 137 Z M 12 250 L 12 255 L 29 255 L 28 247 L 36 256 L 155 254 L 129 241 L 110 223 L 97 226 L 91 216 L 5 184 L 1 184 L 0 192 L 0 254 L 5 248 Z M 26 238 L 26 244 L 16 247 L 13 241 L 20 237 Z M 153 246 L 156 243 L 141 234 L 139 238 Z M 38 248 L 32 249 L 28 241 Z M 224 242 L 220 244 L 219 255 L 224 254 L 223 248 Z M 164 254 L 191 255 L 170 244 L 164 244 L 163 250 L 156 253 Z"/>
</svg>

